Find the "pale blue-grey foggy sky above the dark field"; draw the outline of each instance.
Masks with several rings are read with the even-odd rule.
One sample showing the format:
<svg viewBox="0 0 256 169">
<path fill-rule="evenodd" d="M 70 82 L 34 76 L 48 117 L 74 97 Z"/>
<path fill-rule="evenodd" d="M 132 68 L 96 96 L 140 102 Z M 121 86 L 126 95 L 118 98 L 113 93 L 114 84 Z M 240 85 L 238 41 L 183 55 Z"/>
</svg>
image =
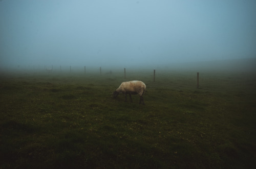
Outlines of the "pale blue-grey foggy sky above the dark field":
<svg viewBox="0 0 256 169">
<path fill-rule="evenodd" d="M 255 9 L 255 0 L 0 0 L 0 65 L 255 58 Z"/>
</svg>

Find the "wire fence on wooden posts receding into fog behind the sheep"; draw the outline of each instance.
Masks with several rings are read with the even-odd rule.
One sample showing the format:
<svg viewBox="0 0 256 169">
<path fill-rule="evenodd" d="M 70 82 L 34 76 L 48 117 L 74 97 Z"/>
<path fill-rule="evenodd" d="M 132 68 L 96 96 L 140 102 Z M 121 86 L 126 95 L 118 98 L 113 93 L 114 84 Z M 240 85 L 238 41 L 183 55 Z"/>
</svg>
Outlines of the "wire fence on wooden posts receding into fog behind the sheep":
<svg viewBox="0 0 256 169">
<path fill-rule="evenodd" d="M 1 70 L 2 71 L 2 70 Z M 254 87 L 256 86 L 256 72 L 240 71 L 208 71 L 208 70 L 170 70 L 170 69 L 149 69 L 149 68 L 113 68 L 113 67 L 90 67 L 90 66 L 19 66 L 12 70 L 19 73 L 38 73 L 38 74 L 65 74 L 84 76 L 110 77 L 116 76 L 123 80 L 150 79 L 158 83 L 168 83 L 170 85 L 191 86 L 191 88 L 221 89 L 229 86 L 230 88 Z M 164 79 L 164 82 L 163 82 Z"/>
</svg>

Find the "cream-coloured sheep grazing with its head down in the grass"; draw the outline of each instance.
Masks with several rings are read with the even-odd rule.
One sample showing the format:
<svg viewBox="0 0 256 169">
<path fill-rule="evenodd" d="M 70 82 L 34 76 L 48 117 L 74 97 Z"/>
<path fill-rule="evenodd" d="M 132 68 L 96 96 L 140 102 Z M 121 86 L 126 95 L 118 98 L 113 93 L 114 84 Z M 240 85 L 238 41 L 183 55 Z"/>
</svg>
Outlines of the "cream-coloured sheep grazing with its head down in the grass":
<svg viewBox="0 0 256 169">
<path fill-rule="evenodd" d="M 145 83 L 135 80 L 135 81 L 129 81 L 129 82 L 122 82 L 121 85 L 112 94 L 114 98 L 116 98 L 119 93 L 125 94 L 125 102 L 127 100 L 126 99 L 127 94 L 129 94 L 131 102 L 133 102 L 131 94 L 139 94 L 140 96 L 139 104 L 141 104 L 141 101 L 142 101 L 142 104 L 145 105 L 142 97 L 145 90 L 146 90 Z"/>
</svg>

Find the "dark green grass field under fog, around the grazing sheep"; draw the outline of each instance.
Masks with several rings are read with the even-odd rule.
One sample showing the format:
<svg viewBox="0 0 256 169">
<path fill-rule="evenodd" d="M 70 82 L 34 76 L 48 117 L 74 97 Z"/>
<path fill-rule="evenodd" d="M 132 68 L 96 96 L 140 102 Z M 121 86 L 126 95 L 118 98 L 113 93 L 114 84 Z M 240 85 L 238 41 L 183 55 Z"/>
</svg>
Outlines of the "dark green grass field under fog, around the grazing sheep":
<svg viewBox="0 0 256 169">
<path fill-rule="evenodd" d="M 2 73 L 0 168 L 255 168 L 256 76 Z M 146 84 L 145 106 L 121 82 Z"/>
</svg>

